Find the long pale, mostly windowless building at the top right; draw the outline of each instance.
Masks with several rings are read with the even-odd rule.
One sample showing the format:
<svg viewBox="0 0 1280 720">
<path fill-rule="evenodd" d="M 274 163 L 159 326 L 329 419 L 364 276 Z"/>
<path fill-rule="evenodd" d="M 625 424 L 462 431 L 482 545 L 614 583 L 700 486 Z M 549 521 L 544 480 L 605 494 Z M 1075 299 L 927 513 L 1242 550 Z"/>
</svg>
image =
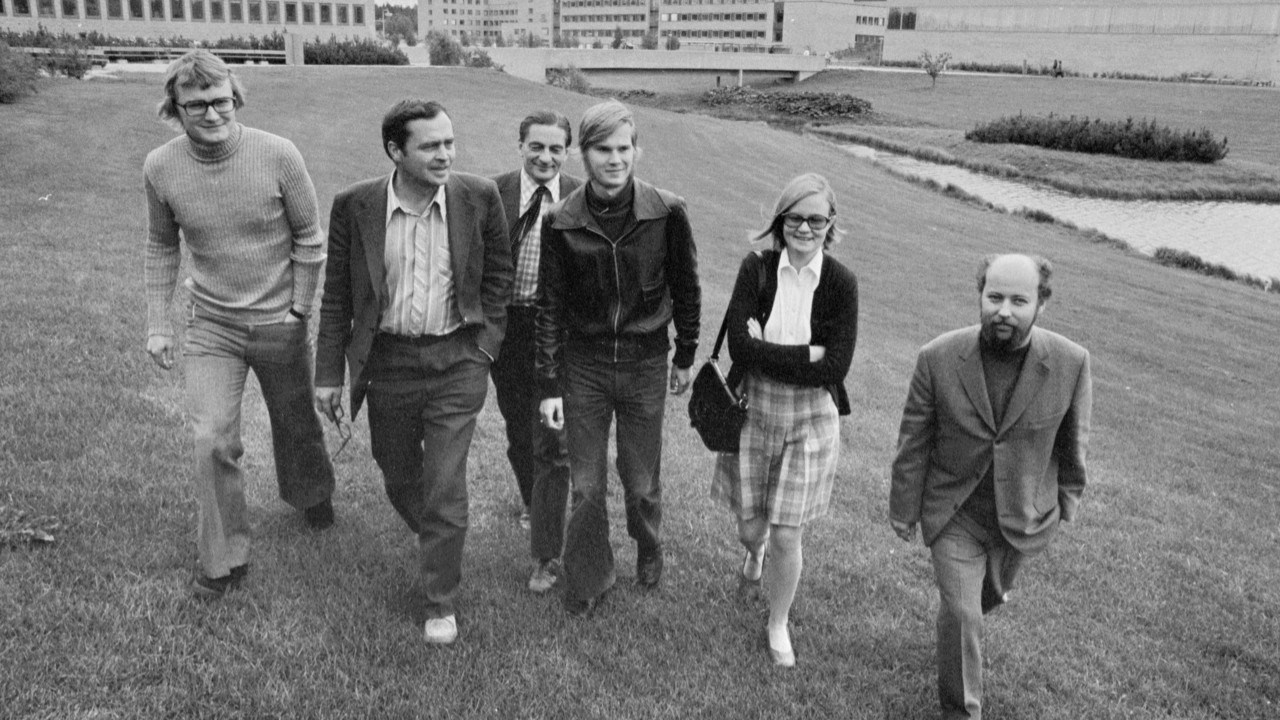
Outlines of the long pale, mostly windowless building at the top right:
<svg viewBox="0 0 1280 720">
<path fill-rule="evenodd" d="M 1084 74 L 1280 82 L 1280 3 L 1231 0 L 893 0 L 886 60 L 952 60 Z"/>
</svg>

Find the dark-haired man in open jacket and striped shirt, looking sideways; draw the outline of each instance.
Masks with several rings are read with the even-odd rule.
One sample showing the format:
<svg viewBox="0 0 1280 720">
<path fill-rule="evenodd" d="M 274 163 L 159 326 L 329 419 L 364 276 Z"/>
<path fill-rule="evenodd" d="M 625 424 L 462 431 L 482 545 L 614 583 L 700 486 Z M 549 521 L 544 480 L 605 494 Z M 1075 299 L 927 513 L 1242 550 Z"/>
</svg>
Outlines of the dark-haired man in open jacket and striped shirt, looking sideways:
<svg viewBox="0 0 1280 720">
<path fill-rule="evenodd" d="M 338 193 L 316 343 L 316 407 L 342 418 L 369 398 L 387 496 L 417 534 L 428 642 L 457 638 L 467 530 L 467 451 L 511 300 L 511 245 L 498 188 L 452 172 L 453 122 L 402 100 L 383 118 L 389 176 Z"/>
</svg>

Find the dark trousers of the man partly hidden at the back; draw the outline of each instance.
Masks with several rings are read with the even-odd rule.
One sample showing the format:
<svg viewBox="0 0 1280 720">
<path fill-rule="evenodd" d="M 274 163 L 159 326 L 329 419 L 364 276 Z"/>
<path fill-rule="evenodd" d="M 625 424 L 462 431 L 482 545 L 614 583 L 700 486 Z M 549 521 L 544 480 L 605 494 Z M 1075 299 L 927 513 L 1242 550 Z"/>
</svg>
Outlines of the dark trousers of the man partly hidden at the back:
<svg viewBox="0 0 1280 720">
<path fill-rule="evenodd" d="M 550 560 L 564 547 L 568 446 L 564 433 L 544 427 L 538 413 L 536 315 L 536 307 L 507 307 L 507 334 L 493 364 L 493 387 L 507 425 L 507 460 L 529 509 L 529 550 L 536 560 Z"/>
</svg>

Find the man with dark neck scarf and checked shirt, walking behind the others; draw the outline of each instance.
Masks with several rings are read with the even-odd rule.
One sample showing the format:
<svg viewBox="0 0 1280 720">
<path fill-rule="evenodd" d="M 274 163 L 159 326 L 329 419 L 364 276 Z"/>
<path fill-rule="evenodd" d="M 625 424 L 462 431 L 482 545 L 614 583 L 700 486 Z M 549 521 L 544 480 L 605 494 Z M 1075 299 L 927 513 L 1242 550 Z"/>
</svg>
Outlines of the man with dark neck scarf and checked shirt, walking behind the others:
<svg viewBox="0 0 1280 720">
<path fill-rule="evenodd" d="M 538 315 L 543 217 L 548 208 L 582 184 L 577 178 L 561 174 L 572 142 L 568 118 L 552 110 L 532 113 L 520 123 L 521 169 L 493 178 L 511 225 L 511 256 L 516 265 L 507 307 L 507 337 L 502 355 L 493 364 L 493 386 L 507 425 L 507 459 L 524 502 L 520 520 L 529 529 L 529 548 L 535 561 L 529 589 L 535 593 L 544 593 L 556 584 L 568 503 L 564 430 L 543 425 L 538 413 L 541 397 L 534 370 L 538 351 L 534 319 Z"/>
</svg>

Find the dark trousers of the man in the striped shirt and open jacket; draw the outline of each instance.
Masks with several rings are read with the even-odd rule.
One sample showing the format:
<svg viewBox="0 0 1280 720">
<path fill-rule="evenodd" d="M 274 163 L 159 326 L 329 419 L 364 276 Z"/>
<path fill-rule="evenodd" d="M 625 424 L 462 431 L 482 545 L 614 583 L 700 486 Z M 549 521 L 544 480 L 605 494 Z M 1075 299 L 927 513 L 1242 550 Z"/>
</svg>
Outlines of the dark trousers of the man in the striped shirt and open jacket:
<svg viewBox="0 0 1280 720">
<path fill-rule="evenodd" d="M 369 434 L 387 497 L 417 533 L 428 618 L 453 615 L 467 534 L 467 452 L 489 392 L 470 332 L 380 334 L 370 352 Z"/>
</svg>

